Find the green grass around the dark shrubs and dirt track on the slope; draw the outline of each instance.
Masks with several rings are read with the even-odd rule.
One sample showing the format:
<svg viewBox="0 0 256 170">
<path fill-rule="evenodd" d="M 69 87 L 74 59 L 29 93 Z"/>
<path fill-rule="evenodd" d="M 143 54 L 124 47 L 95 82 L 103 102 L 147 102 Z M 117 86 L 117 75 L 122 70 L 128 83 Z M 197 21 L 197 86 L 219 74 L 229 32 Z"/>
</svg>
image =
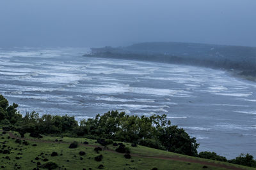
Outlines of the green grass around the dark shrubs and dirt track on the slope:
<svg viewBox="0 0 256 170">
<path fill-rule="evenodd" d="M 83 141 L 88 141 L 89 145 L 99 145 L 95 143 L 95 140 L 85 139 L 85 138 L 60 138 L 54 136 L 44 136 L 41 140 L 51 141 L 50 143 L 44 143 L 43 141 L 28 141 L 29 145 L 20 145 L 19 143 L 15 143 L 15 139 L 8 139 L 9 134 L 2 134 L 0 132 L 0 150 L 3 145 L 6 145 L 5 148 L 10 147 L 10 154 L 0 153 L 0 169 L 1 166 L 4 166 L 4 169 L 17 169 L 16 167 L 20 166 L 20 169 L 33 169 L 36 168 L 36 162 L 40 162 L 44 164 L 45 162 L 42 160 L 44 158 L 49 159 L 49 161 L 56 162 L 60 169 L 83 169 L 86 170 L 89 168 L 98 169 L 97 167 L 102 164 L 104 169 L 152 169 L 153 167 L 157 167 L 157 169 L 202 169 L 204 164 L 198 163 L 189 163 L 184 161 L 177 160 L 164 160 L 164 159 L 153 159 L 147 158 L 147 156 L 154 157 L 182 157 L 188 159 L 201 160 L 204 162 L 214 162 L 216 164 L 226 164 L 228 166 L 234 167 L 242 167 L 243 169 L 252 169 L 250 167 L 237 166 L 234 164 L 228 164 L 224 162 L 218 162 L 214 160 L 206 160 L 206 159 L 198 159 L 196 157 L 188 157 L 186 155 L 180 155 L 177 153 L 165 152 L 163 150 L 156 150 L 152 148 L 147 148 L 145 146 L 131 147 L 130 143 L 124 143 L 131 150 L 131 154 L 141 155 L 141 157 L 132 155 L 131 159 L 125 159 L 124 154 L 109 152 L 108 150 L 103 150 L 100 153 L 96 153 L 91 146 L 79 145 L 77 148 L 70 149 L 68 148 L 68 143 L 58 143 L 54 142 L 56 139 L 63 140 L 64 142 L 72 142 L 77 141 L 81 143 Z M 13 134 L 17 134 L 17 132 L 13 132 Z M 4 138 L 4 139 L 2 139 Z M 26 138 L 29 138 L 28 134 L 26 134 Z M 5 143 L 4 143 L 5 142 Z M 4 143 L 4 144 L 3 144 Z M 32 146 L 36 144 L 37 146 Z M 4 149 L 5 149 L 4 148 Z M 16 149 L 17 148 L 17 149 Z M 102 148 L 104 148 L 102 146 Z M 108 145 L 108 148 L 111 150 L 115 150 L 115 146 Z M 16 149 L 16 150 L 15 150 Z M 20 149 L 22 149 L 20 151 Z M 79 152 L 83 151 L 86 153 L 84 156 L 80 156 Z M 40 153 L 44 153 L 44 155 L 40 155 Z M 58 156 L 51 157 L 52 152 L 57 152 Z M 18 153 L 22 153 L 22 155 L 18 155 Z M 47 154 L 47 155 L 45 155 Z M 62 154 L 62 155 L 61 155 Z M 94 157 L 97 155 L 103 155 L 103 159 L 100 162 L 94 160 Z M 10 157 L 10 160 L 5 159 L 5 157 Z M 44 156 L 44 157 L 42 157 Z M 145 157 L 143 157 L 145 156 Z M 19 160 L 15 159 L 15 157 L 21 157 Z M 39 160 L 35 160 L 38 157 Z M 83 158 L 83 159 L 81 159 Z M 31 162 L 33 160 L 33 162 Z M 67 162 L 69 160 L 69 162 Z M 47 161 L 47 162 L 49 162 Z M 59 169 L 59 167 L 57 169 Z M 207 166 L 207 169 L 224 169 L 221 167 Z M 40 168 L 42 169 L 42 168 Z"/>
</svg>

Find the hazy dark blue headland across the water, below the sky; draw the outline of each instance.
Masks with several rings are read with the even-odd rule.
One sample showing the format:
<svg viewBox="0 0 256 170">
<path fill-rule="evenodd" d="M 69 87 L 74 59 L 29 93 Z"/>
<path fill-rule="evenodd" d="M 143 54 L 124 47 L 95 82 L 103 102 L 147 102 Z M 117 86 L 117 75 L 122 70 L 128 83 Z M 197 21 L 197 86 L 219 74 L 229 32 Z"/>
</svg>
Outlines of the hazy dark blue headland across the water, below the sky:
<svg viewBox="0 0 256 170">
<path fill-rule="evenodd" d="M 88 55 L 86 55 L 88 56 Z M 256 77 L 256 47 L 199 43 L 137 43 L 113 48 L 92 48 L 90 56 L 136 59 L 206 66 L 235 71 L 251 80 Z"/>
</svg>

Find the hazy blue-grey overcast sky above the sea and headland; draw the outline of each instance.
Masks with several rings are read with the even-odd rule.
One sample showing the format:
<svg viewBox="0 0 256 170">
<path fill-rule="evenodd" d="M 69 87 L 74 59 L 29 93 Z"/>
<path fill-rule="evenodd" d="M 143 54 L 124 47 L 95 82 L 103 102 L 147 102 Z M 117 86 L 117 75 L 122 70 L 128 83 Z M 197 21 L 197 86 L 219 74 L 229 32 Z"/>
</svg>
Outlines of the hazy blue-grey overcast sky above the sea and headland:
<svg viewBox="0 0 256 170">
<path fill-rule="evenodd" d="M 256 0 L 1 0 L 1 46 L 256 46 Z"/>
</svg>

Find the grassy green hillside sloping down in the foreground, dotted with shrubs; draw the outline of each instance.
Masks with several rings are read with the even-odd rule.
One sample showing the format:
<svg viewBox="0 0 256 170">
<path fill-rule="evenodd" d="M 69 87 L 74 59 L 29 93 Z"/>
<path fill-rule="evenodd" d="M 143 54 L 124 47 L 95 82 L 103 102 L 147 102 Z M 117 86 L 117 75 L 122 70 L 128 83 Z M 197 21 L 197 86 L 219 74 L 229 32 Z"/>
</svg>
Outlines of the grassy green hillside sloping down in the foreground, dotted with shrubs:
<svg viewBox="0 0 256 170">
<path fill-rule="evenodd" d="M 77 148 L 68 148 L 70 143 L 77 141 Z M 83 144 L 87 141 L 88 144 Z M 198 159 L 145 146 L 129 148 L 131 159 L 124 157 L 127 153 L 118 153 L 118 146 L 101 146 L 95 140 L 85 138 L 61 138 L 43 136 L 35 139 L 25 134 L 20 138 L 18 132 L 0 130 L 0 169 L 252 169 L 214 160 Z M 95 152 L 95 148 L 103 150 Z M 6 153 L 10 152 L 10 153 Z M 56 156 L 51 156 L 56 152 Z M 79 152 L 82 152 L 81 155 Z M 85 155 L 83 155 L 83 152 Z M 54 153 L 53 153 L 54 155 Z M 102 160 L 95 157 L 102 155 Z M 45 168 L 43 168 L 45 167 Z"/>
</svg>

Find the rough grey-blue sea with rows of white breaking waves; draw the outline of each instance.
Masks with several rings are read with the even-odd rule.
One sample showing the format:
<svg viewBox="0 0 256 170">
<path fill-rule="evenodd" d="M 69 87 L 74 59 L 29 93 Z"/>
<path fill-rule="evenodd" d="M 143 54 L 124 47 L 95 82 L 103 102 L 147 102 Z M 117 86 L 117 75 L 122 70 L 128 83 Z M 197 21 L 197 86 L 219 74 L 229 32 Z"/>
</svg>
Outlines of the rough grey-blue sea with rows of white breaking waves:
<svg viewBox="0 0 256 170">
<path fill-rule="evenodd" d="M 0 50 L 0 92 L 27 111 L 74 115 L 109 110 L 166 114 L 228 159 L 256 156 L 256 83 L 225 71 L 136 60 L 82 57 L 88 48 Z"/>
</svg>

